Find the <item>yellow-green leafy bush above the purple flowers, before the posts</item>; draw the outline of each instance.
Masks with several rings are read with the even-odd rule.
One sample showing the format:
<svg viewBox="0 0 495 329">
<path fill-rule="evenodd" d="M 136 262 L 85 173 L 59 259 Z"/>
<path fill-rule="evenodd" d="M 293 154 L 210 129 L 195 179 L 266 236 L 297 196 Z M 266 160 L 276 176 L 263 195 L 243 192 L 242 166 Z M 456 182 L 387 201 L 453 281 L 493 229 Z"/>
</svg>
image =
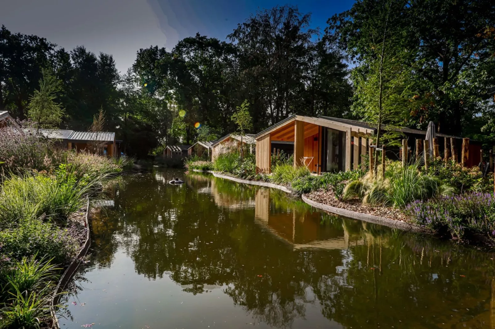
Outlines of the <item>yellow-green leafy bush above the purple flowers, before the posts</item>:
<svg viewBox="0 0 495 329">
<path fill-rule="evenodd" d="M 467 168 L 452 160 L 446 164 L 443 159 L 437 158 L 430 162 L 427 172 L 455 187 L 460 193 L 493 191 L 493 175 L 483 177 L 483 172 L 477 166 Z"/>
</svg>

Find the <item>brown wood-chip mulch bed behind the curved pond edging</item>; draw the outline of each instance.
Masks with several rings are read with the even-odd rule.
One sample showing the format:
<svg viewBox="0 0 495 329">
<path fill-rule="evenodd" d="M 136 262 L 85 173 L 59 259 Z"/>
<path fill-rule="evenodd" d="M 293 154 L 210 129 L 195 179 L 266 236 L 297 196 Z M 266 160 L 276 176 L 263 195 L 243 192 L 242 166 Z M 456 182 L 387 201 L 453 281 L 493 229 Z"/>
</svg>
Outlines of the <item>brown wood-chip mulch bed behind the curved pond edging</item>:
<svg viewBox="0 0 495 329">
<path fill-rule="evenodd" d="M 403 222 L 410 222 L 406 214 L 397 208 L 387 206 L 363 205 L 357 198 L 348 201 L 337 199 L 333 191 L 318 190 L 305 195 L 306 198 L 320 204 L 343 208 L 351 211 L 357 211 L 368 215 L 374 215 Z"/>
</svg>

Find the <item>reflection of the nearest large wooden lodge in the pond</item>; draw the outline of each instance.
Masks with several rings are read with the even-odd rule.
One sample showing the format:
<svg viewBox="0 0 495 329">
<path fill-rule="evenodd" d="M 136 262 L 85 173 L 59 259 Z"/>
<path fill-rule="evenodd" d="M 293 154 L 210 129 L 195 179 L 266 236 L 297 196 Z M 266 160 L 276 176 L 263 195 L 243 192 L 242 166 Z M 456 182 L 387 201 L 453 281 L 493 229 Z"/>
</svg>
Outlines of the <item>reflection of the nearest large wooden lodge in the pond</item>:
<svg viewBox="0 0 495 329">
<path fill-rule="evenodd" d="M 270 201 L 270 193 L 273 192 L 267 189 L 256 192 L 255 221 L 295 249 L 347 249 L 364 245 L 362 236 L 351 233 L 344 222 L 342 228 L 322 226 L 323 212 L 306 206 L 300 210 L 296 206 L 277 208 Z"/>
</svg>

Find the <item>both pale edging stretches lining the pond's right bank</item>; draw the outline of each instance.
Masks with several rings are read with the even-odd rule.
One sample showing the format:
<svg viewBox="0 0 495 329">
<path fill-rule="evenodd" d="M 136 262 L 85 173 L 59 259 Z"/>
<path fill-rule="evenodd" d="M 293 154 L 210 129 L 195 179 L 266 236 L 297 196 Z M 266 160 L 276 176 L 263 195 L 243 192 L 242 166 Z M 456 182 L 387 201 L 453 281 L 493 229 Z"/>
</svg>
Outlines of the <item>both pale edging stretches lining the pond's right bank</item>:
<svg viewBox="0 0 495 329">
<path fill-rule="evenodd" d="M 294 191 L 290 190 L 289 188 L 287 188 L 285 186 L 277 185 L 277 184 L 273 184 L 273 183 L 260 182 L 260 181 L 252 181 L 252 180 L 247 180 L 247 179 L 240 179 L 240 178 L 236 178 L 236 177 L 232 177 L 232 176 L 228 176 L 228 175 L 222 175 L 222 174 L 219 174 L 219 173 L 217 173 L 215 171 L 211 171 L 211 170 L 202 171 L 202 170 L 193 169 L 193 171 L 197 171 L 197 172 L 208 172 L 208 173 L 213 174 L 213 176 L 215 176 L 215 177 L 229 179 L 229 180 L 232 180 L 232 181 L 235 181 L 235 182 L 238 182 L 238 183 L 244 183 L 244 184 L 250 184 L 250 185 L 257 185 L 257 186 L 274 188 L 274 189 L 278 189 L 278 190 L 281 190 L 281 191 L 284 191 L 284 192 L 287 192 L 287 193 L 290 193 L 290 194 L 293 194 L 294 193 Z M 419 227 L 418 225 L 414 225 L 412 223 L 408 223 L 408 222 L 406 222 L 404 220 L 392 219 L 392 218 L 387 218 L 387 217 L 372 215 L 372 214 L 369 214 L 369 213 L 363 213 L 363 212 L 359 212 L 359 211 L 353 211 L 353 210 L 349 210 L 349 209 L 346 209 L 346 208 L 343 208 L 343 207 L 336 207 L 336 206 L 331 206 L 331 205 L 319 203 L 317 201 L 311 200 L 311 199 L 313 199 L 312 193 L 309 193 L 307 195 L 302 195 L 301 196 L 301 199 L 302 199 L 302 201 L 304 201 L 306 204 L 308 204 L 310 206 L 313 206 L 315 208 L 319 208 L 319 209 L 322 209 L 322 210 L 325 210 L 325 211 L 329 211 L 329 212 L 332 212 L 332 213 L 335 213 L 335 214 L 338 214 L 338 215 L 341 215 L 341 216 L 346 216 L 346 217 L 349 217 L 349 218 L 358 219 L 358 220 L 366 221 L 366 222 L 369 222 L 369 223 L 380 224 L 380 225 L 383 225 L 383 226 L 387 226 L 387 227 L 391 227 L 391 228 L 396 228 L 396 229 L 400 229 L 400 230 L 404 230 L 404 231 L 425 232 L 425 230 L 422 229 L 421 227 Z"/>
</svg>

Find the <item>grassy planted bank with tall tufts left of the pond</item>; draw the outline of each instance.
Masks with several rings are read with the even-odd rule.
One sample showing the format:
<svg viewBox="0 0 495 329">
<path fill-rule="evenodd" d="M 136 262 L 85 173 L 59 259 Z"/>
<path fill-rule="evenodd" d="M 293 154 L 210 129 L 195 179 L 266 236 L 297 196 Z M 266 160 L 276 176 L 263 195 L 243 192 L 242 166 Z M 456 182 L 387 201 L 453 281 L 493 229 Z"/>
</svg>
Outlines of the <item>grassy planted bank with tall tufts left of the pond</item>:
<svg viewBox="0 0 495 329">
<path fill-rule="evenodd" d="M 0 149 L 0 328 L 40 328 L 50 322 L 62 268 L 84 240 L 87 197 L 132 162 L 10 137 Z"/>
</svg>

